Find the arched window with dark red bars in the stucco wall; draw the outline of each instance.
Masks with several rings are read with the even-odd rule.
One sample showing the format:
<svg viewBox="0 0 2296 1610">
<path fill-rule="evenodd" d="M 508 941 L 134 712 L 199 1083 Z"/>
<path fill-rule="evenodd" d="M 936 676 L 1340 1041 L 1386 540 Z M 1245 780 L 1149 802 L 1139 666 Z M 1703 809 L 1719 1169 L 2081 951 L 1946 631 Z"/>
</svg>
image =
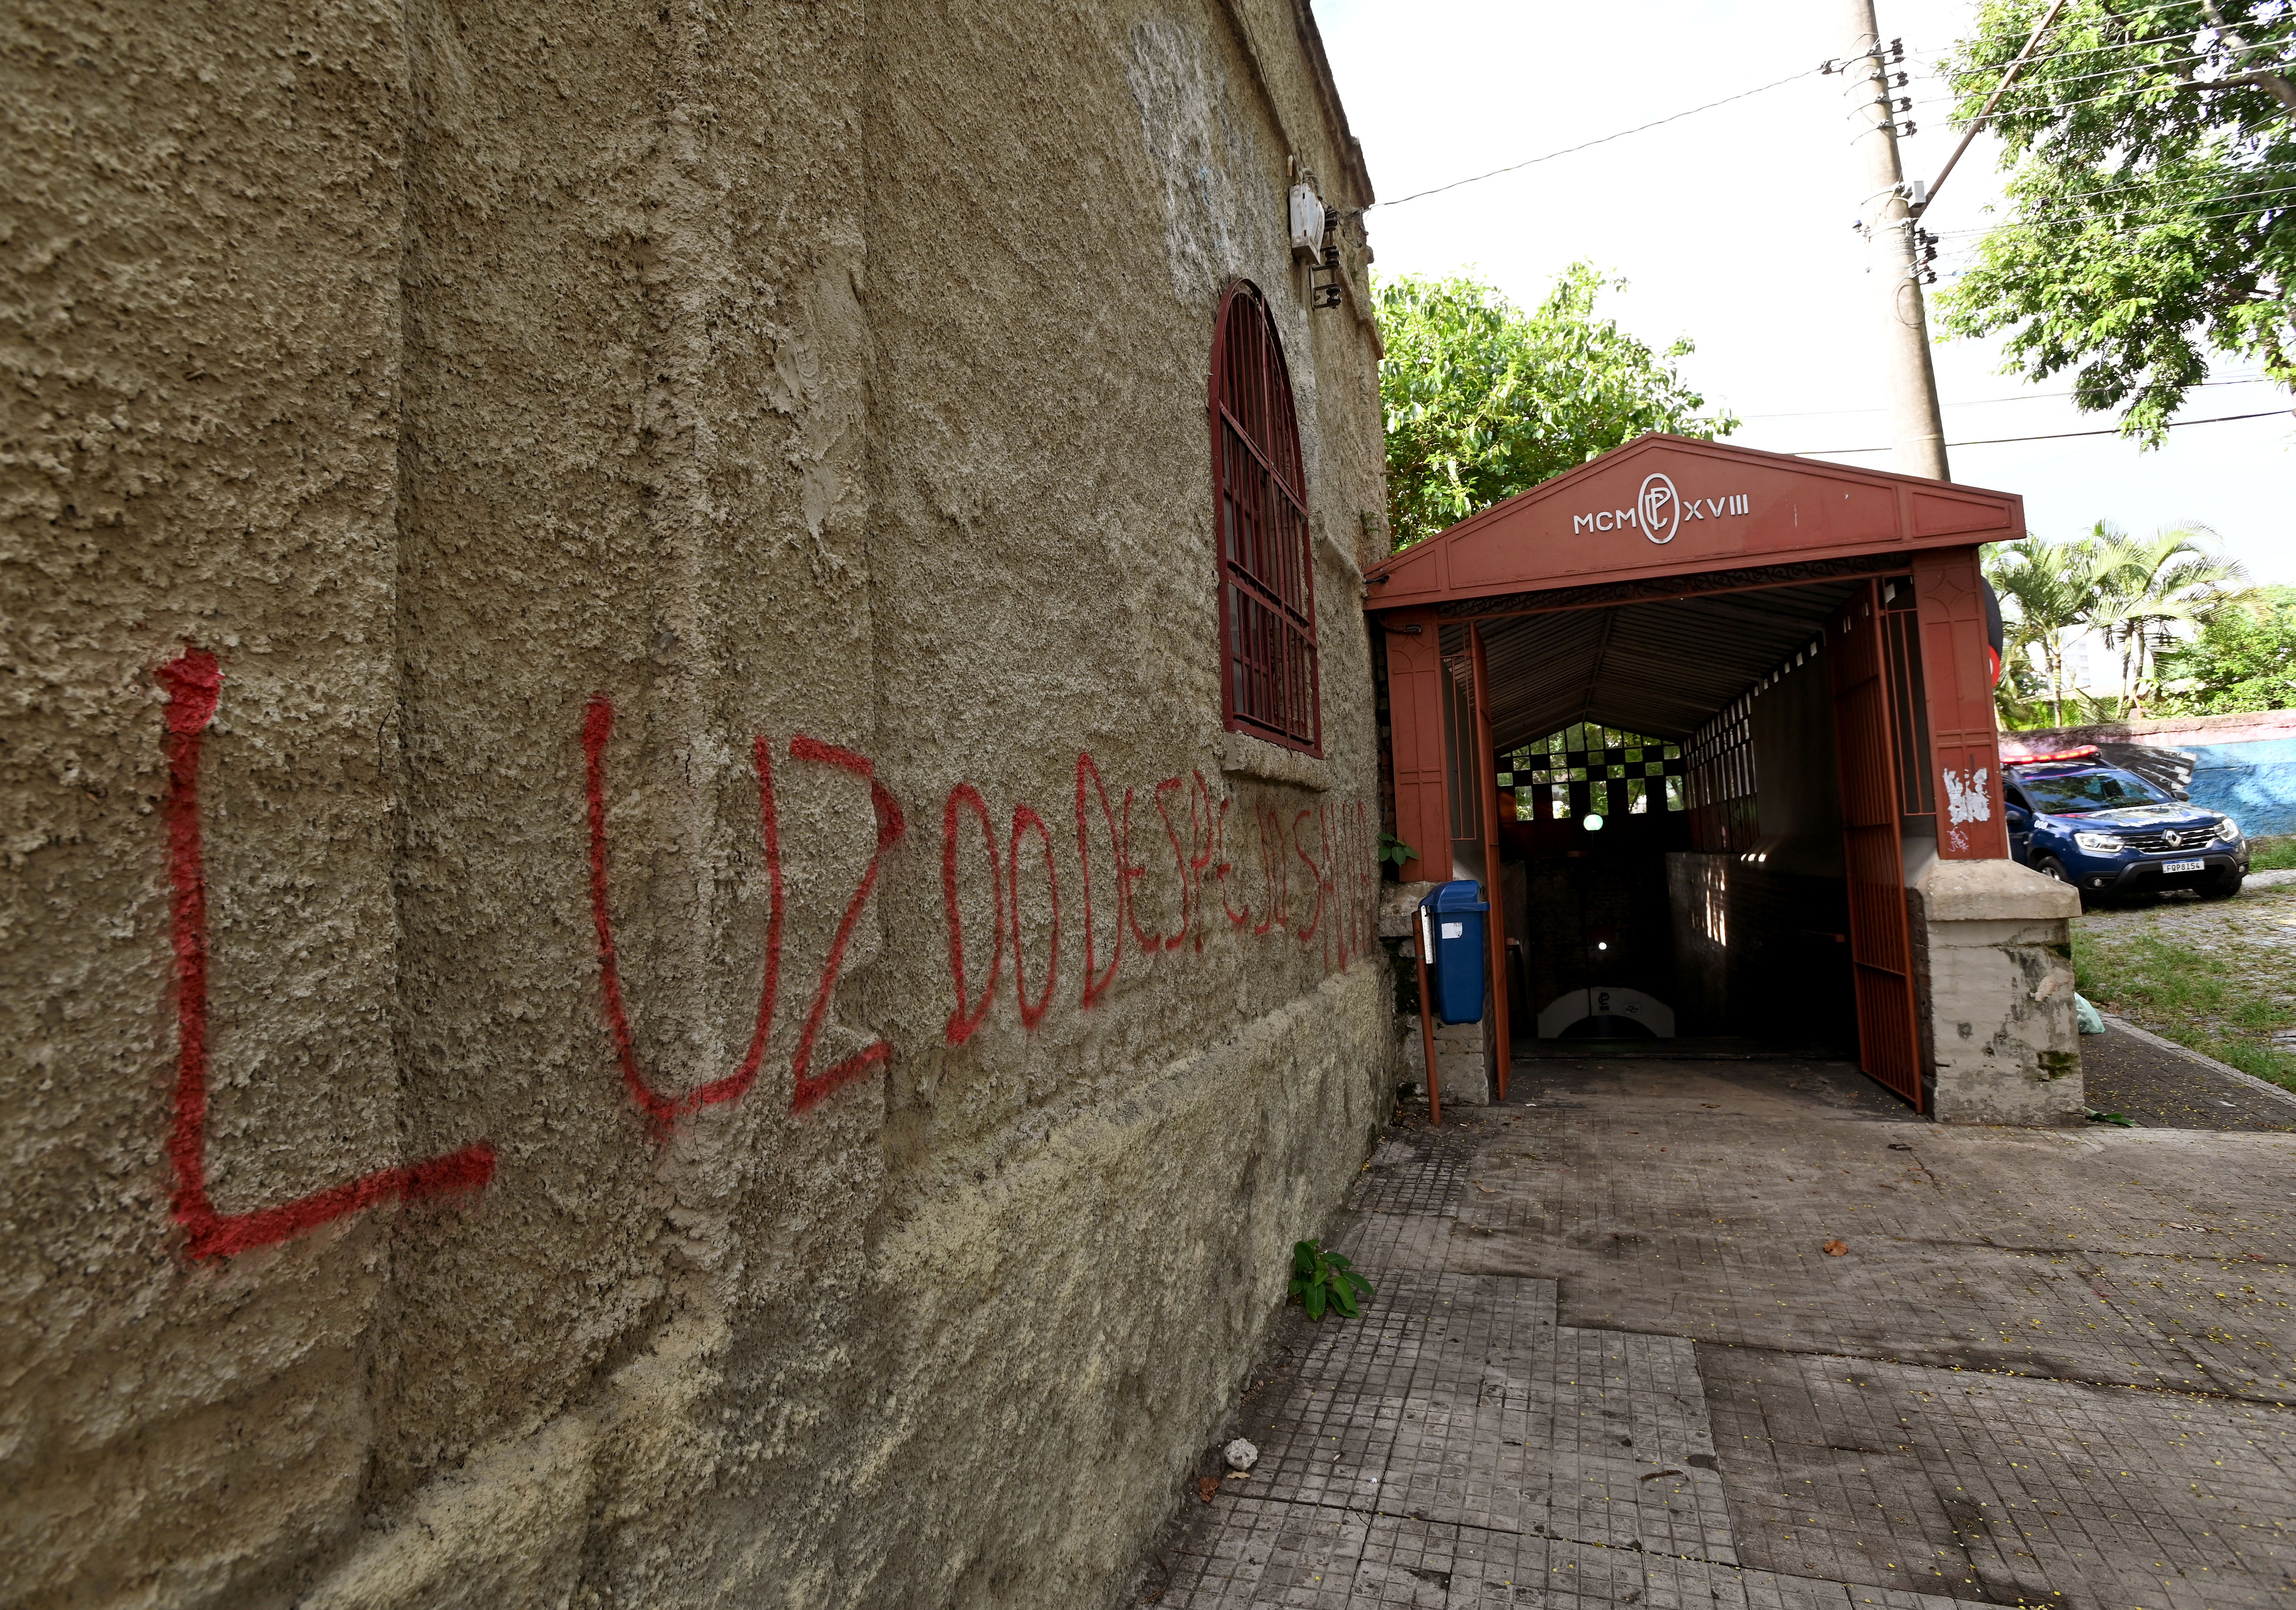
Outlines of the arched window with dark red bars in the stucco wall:
<svg viewBox="0 0 2296 1610">
<path fill-rule="evenodd" d="M 1316 565 L 1290 370 L 1267 301 L 1228 287 L 1212 340 L 1221 714 L 1231 733 L 1322 753 Z"/>
</svg>

